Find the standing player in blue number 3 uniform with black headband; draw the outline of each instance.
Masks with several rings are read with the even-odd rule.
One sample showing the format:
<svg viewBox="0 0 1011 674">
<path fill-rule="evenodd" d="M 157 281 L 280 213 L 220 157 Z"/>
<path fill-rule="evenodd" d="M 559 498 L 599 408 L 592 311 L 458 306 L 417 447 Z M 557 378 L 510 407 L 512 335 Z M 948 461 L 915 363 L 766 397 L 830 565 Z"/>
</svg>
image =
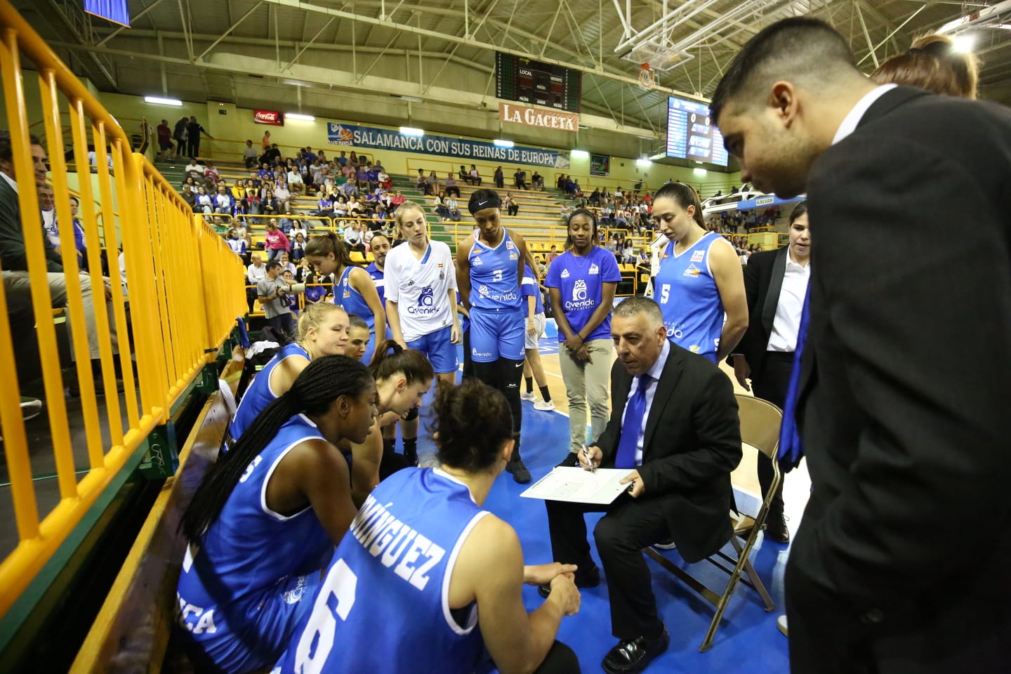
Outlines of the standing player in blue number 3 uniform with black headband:
<svg viewBox="0 0 1011 674">
<path fill-rule="evenodd" d="M 468 208 L 477 224 L 457 244 L 456 281 L 470 311 L 470 360 L 474 375 L 505 395 L 516 421 L 516 449 L 505 470 L 530 482 L 520 458 L 520 381 L 523 378 L 525 316 L 520 292 L 523 266 L 536 269 L 523 236 L 501 225 L 501 201 L 494 190 L 475 190 Z"/>
</svg>

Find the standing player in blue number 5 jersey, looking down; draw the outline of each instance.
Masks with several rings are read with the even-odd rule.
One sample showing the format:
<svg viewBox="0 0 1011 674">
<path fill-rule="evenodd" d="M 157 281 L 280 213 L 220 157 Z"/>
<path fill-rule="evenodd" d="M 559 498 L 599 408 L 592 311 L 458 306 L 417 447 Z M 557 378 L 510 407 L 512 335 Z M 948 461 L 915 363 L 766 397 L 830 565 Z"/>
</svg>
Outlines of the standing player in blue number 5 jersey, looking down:
<svg viewBox="0 0 1011 674">
<path fill-rule="evenodd" d="M 731 353 L 748 328 L 737 254 L 730 242 L 706 230 L 699 195 L 683 183 L 657 190 L 653 221 L 669 240 L 653 279 L 653 296 L 663 312 L 667 336 L 716 363 Z"/>
</svg>

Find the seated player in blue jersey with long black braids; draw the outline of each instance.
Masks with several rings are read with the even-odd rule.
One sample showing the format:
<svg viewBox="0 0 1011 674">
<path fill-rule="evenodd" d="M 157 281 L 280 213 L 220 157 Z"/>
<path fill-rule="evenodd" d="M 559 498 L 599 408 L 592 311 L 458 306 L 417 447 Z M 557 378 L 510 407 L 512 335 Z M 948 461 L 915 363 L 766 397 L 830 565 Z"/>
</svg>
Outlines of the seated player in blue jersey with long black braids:
<svg viewBox="0 0 1011 674">
<path fill-rule="evenodd" d="M 195 664 L 248 672 L 286 648 L 357 510 L 335 445 L 364 442 L 375 415 L 368 369 L 325 356 L 208 469 L 181 522 L 178 621 Z"/>
</svg>

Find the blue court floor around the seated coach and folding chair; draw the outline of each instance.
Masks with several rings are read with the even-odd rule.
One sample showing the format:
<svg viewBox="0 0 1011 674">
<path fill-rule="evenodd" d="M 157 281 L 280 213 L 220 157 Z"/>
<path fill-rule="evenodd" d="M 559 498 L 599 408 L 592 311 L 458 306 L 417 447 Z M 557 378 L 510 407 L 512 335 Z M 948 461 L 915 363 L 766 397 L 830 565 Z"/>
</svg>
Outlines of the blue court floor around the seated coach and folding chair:
<svg viewBox="0 0 1011 674">
<path fill-rule="evenodd" d="M 522 452 L 534 481 L 550 472 L 568 451 L 568 418 L 557 412 L 535 410 L 524 402 L 522 423 Z M 423 415 L 425 409 L 423 408 Z M 423 423 L 424 427 L 424 423 Z M 423 464 L 431 459 L 435 448 L 430 439 L 421 434 L 419 450 Z M 788 487 L 790 482 L 788 481 Z M 543 501 L 521 498 L 524 485 L 516 484 L 503 473 L 495 482 L 485 507 L 509 521 L 520 536 L 525 561 L 541 564 L 551 560 L 547 514 Z M 789 498 L 789 496 L 788 496 Z M 788 500 L 788 512 L 790 502 Z M 587 515 L 590 532 L 600 514 Z M 799 517 L 791 522 L 795 528 Z M 729 548 L 729 545 L 728 545 Z M 680 558 L 676 551 L 666 553 L 671 560 Z M 600 565 L 595 546 L 593 558 Z M 787 560 L 787 546 L 765 541 L 761 550 L 753 553 L 752 562 L 776 603 L 776 608 L 766 613 L 757 593 L 743 585 L 736 590 L 727 607 L 723 621 L 716 634 L 713 648 L 699 652 L 699 645 L 714 614 L 714 607 L 682 585 L 654 562 L 653 591 L 662 619 L 670 632 L 670 648 L 653 662 L 647 672 L 703 672 L 722 674 L 743 672 L 747 674 L 780 674 L 789 671 L 787 639 L 776 629 L 776 617 L 783 612 L 783 570 Z M 681 563 L 683 565 L 683 563 Z M 687 566 L 687 565 L 683 565 Z M 691 565 L 693 574 L 722 593 L 727 575 L 708 562 Z M 535 587 L 524 589 L 527 608 L 533 610 L 543 599 Z M 570 646 L 578 655 L 583 672 L 600 672 L 601 661 L 618 643 L 611 635 L 611 613 L 608 603 L 607 582 L 599 587 L 582 590 L 582 604 L 577 615 L 562 621 L 558 639 Z"/>
</svg>

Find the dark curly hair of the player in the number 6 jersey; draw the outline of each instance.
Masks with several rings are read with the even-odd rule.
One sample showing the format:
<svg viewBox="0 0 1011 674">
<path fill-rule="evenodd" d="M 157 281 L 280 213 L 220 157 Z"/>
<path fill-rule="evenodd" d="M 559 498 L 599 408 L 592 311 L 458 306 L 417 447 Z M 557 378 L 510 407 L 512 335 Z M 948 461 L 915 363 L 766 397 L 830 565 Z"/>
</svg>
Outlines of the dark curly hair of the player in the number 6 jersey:
<svg viewBox="0 0 1011 674">
<path fill-rule="evenodd" d="M 429 426 L 439 462 L 468 473 L 490 468 L 502 444 L 513 440 L 513 413 L 501 391 L 477 379 L 459 386 L 439 383 Z"/>
</svg>

